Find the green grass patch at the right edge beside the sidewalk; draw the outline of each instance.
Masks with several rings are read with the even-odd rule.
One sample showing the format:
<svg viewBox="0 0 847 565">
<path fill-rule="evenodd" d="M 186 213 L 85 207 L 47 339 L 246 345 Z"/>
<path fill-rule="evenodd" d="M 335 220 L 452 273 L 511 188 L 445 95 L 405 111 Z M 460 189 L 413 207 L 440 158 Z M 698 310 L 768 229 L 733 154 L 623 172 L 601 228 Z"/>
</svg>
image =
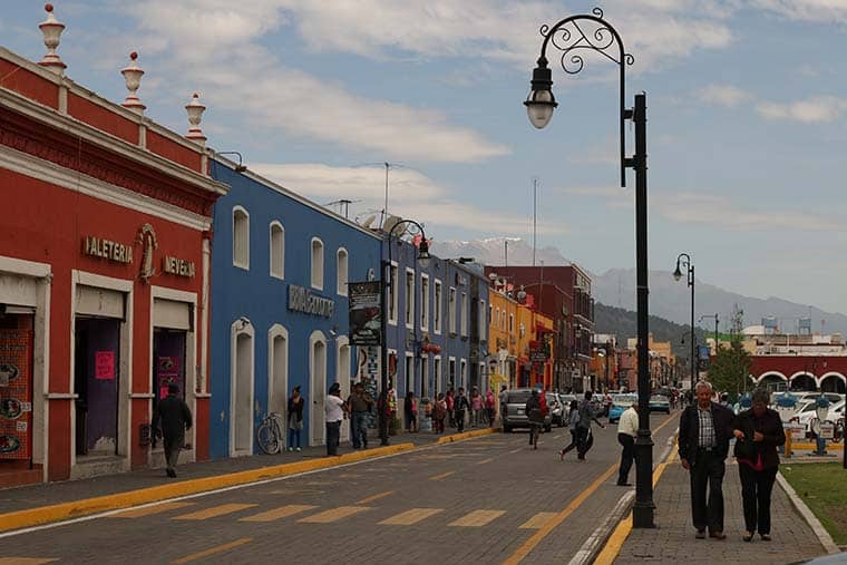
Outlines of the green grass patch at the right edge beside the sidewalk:
<svg viewBox="0 0 847 565">
<path fill-rule="evenodd" d="M 841 462 L 781 465 L 782 476 L 838 545 L 847 544 L 847 470 Z"/>
</svg>

